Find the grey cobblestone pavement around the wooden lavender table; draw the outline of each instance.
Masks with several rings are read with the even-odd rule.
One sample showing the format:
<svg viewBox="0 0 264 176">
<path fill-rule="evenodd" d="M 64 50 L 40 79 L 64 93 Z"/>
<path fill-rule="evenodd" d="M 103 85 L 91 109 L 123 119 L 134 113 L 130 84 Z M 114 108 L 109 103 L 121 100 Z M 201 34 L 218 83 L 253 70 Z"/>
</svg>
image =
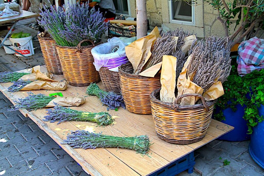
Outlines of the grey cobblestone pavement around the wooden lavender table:
<svg viewBox="0 0 264 176">
<path fill-rule="evenodd" d="M 33 30 L 22 22 L 21 27 Z M 27 32 L 28 32 L 27 31 Z M 31 31 L 35 34 L 36 30 Z M 0 31 L 0 36 L 7 31 Z M 34 42 L 34 47 L 38 46 Z M 0 72 L 5 70 L 17 71 L 34 65 L 43 65 L 41 51 L 30 60 L 23 60 L 14 55 L 4 54 L 0 49 Z M 12 103 L 0 93 L 0 175 L 87 175 L 58 144 L 30 118 L 25 118 L 19 111 L 8 112 Z M 6 140 L 6 141 L 5 141 Z M 264 170 L 260 168 L 248 153 L 249 141 L 227 142 L 212 141 L 195 151 L 195 172 L 180 176 L 216 176 L 216 175 L 245 175 L 263 176 Z M 222 159 L 219 159 L 219 158 Z M 223 160 L 230 164 L 223 166 Z M 4 174 L 3 174 L 4 173 Z"/>
</svg>

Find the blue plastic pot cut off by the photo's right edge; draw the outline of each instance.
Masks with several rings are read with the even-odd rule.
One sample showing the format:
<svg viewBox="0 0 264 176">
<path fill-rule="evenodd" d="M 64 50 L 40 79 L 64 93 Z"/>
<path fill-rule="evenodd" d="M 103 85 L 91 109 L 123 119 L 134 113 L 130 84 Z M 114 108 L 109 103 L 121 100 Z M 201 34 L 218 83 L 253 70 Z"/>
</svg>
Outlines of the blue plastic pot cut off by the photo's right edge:
<svg viewBox="0 0 264 176">
<path fill-rule="evenodd" d="M 258 108 L 258 114 L 260 116 L 264 115 L 264 106 L 261 105 Z M 258 123 L 257 126 L 253 128 L 251 135 L 251 141 L 249 143 L 248 151 L 252 159 L 264 169 L 264 121 Z"/>
</svg>

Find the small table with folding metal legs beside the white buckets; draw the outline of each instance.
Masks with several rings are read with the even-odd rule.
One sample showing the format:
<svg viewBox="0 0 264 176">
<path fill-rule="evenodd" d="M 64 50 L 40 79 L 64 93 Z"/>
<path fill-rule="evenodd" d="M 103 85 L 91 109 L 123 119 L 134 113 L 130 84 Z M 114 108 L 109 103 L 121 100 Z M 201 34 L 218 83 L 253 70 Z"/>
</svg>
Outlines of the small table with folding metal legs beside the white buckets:
<svg viewBox="0 0 264 176">
<path fill-rule="evenodd" d="M 29 12 L 29 11 L 25 11 L 23 10 L 19 15 L 17 16 L 12 16 L 12 17 L 7 17 L 7 18 L 0 18 L 0 25 L 3 25 L 3 24 L 6 24 L 6 23 L 10 23 L 10 22 L 15 22 L 13 24 L 13 26 L 10 28 L 10 30 L 8 31 L 8 33 L 6 34 L 6 36 L 4 37 L 2 43 L 0 44 L 0 47 L 2 46 L 6 46 L 7 48 L 11 49 L 12 51 L 15 51 L 13 48 L 7 46 L 4 44 L 4 41 L 6 41 L 7 37 L 10 35 L 10 33 L 12 32 L 12 29 L 15 27 L 16 23 L 19 21 L 19 20 L 25 20 L 25 19 L 28 19 L 28 18 L 34 18 L 34 17 L 38 17 L 39 14 L 36 14 L 36 13 L 32 13 L 32 12 Z M 17 51 L 15 51 L 15 53 L 29 59 L 28 57 L 24 56 L 23 54 L 21 53 L 18 53 Z"/>
</svg>

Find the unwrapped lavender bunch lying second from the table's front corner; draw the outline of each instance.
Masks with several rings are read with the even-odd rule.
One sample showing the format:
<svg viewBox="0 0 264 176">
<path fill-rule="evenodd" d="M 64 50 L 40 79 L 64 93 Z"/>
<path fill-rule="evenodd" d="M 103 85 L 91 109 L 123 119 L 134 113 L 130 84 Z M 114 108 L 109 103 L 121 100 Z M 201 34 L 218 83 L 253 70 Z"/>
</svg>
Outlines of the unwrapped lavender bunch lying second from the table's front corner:
<svg viewBox="0 0 264 176">
<path fill-rule="evenodd" d="M 96 122 L 98 125 L 110 125 L 114 118 L 108 112 L 84 112 L 65 108 L 56 104 L 53 109 L 47 109 L 48 116 L 45 116 L 44 121 L 64 122 L 64 121 L 89 121 Z"/>
</svg>

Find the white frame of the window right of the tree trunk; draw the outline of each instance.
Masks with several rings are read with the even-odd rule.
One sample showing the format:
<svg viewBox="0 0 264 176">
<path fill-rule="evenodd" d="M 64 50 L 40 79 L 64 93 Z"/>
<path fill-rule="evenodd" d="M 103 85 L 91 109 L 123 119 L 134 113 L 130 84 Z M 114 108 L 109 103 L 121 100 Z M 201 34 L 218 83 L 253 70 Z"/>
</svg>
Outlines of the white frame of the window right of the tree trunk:
<svg viewBox="0 0 264 176">
<path fill-rule="evenodd" d="M 180 1 L 181 2 L 181 1 Z M 184 21 L 184 20 L 175 20 L 174 19 L 174 15 L 175 14 L 173 14 L 173 1 L 171 1 L 171 0 L 169 0 L 168 1 L 168 3 L 169 3 L 169 22 L 170 23 L 175 23 L 175 24 L 183 24 L 183 25 L 189 25 L 189 26 L 194 26 L 195 25 L 195 21 L 194 21 L 194 16 L 195 16 L 195 14 L 194 14 L 194 6 L 191 6 L 192 7 L 192 17 L 191 17 L 191 20 L 192 21 Z M 181 17 L 181 18 L 184 18 L 184 16 L 180 16 L 179 15 L 179 17 Z"/>
</svg>

